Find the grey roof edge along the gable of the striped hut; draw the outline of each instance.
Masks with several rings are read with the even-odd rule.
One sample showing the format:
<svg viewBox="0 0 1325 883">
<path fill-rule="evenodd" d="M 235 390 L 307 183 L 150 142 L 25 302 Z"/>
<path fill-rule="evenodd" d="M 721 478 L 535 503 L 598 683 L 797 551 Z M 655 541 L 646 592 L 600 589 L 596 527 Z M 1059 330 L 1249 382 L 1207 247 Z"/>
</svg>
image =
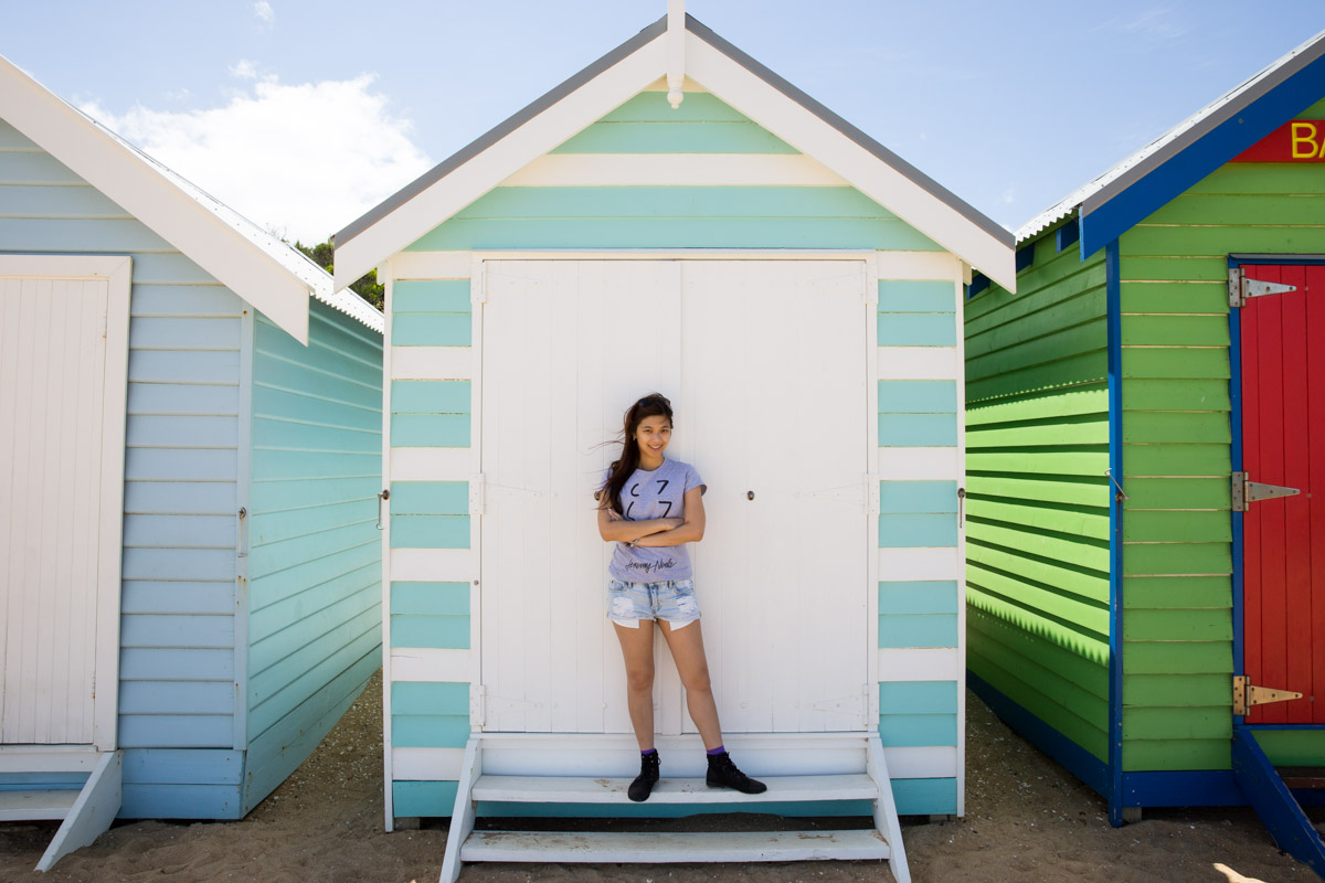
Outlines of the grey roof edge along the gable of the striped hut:
<svg viewBox="0 0 1325 883">
<path fill-rule="evenodd" d="M 1010 230 L 998 225 L 988 216 L 971 207 L 969 203 L 958 197 L 955 193 L 945 188 L 934 179 L 921 172 L 918 168 L 904 160 L 901 156 L 892 152 L 890 150 L 876 142 L 873 138 L 871 138 L 861 130 L 856 128 L 845 119 L 843 119 L 841 116 L 839 116 L 837 114 L 828 110 L 825 106 L 820 105 L 818 101 L 803 93 L 800 89 L 791 85 L 791 82 L 783 79 L 776 73 L 774 73 L 772 70 L 759 64 L 753 57 L 747 56 L 741 49 L 735 48 L 726 40 L 719 37 L 712 28 L 700 23 L 694 16 L 686 13 L 685 26 L 688 30 L 690 30 L 697 37 L 708 42 L 710 46 L 723 53 L 725 56 L 727 56 L 729 58 L 731 58 L 733 61 L 747 69 L 750 73 L 759 77 L 766 83 L 768 83 L 770 86 L 784 94 L 787 98 L 791 98 L 792 101 L 803 106 L 806 110 L 823 119 L 825 123 L 840 131 L 843 135 L 845 135 L 855 143 L 864 147 L 867 151 L 873 154 L 885 164 L 896 168 L 898 172 L 901 172 L 910 180 L 916 181 L 916 184 L 918 184 L 926 193 L 934 196 L 945 205 L 958 212 L 962 217 L 967 218 L 978 228 L 980 228 L 990 236 L 995 237 L 999 242 L 1003 242 L 1004 245 L 1014 244 L 1012 233 Z M 477 139 L 462 147 L 456 154 L 452 154 L 448 159 L 443 160 L 428 172 L 424 172 L 421 176 L 419 176 L 401 189 L 396 191 L 392 196 L 388 196 L 376 208 L 371 209 L 370 212 L 359 217 L 356 221 L 346 226 L 343 230 L 335 234 L 337 245 L 343 245 L 344 242 L 348 242 L 359 233 L 363 233 L 363 230 L 368 229 L 370 226 L 380 221 L 391 212 L 396 210 L 413 197 L 419 196 L 421 192 L 436 184 L 439 180 L 441 180 L 458 167 L 464 165 L 466 162 L 469 162 L 478 154 L 484 152 L 485 150 L 500 142 L 502 138 L 515 131 L 526 122 L 529 122 L 538 114 L 543 113 L 545 110 L 555 105 L 558 101 L 571 94 L 582 85 L 584 85 L 598 74 L 603 73 L 604 70 L 615 65 L 621 58 L 625 58 L 640 46 L 644 46 L 645 44 L 653 41 L 655 38 L 660 37 L 664 33 L 666 33 L 666 16 L 662 16 L 652 25 L 644 28 L 643 30 L 640 30 L 640 33 L 631 37 L 629 40 L 619 45 L 616 49 L 612 49 L 594 64 L 588 65 L 587 68 L 574 74 L 560 85 L 549 90 L 537 101 L 526 105 L 522 110 L 517 111 L 514 115 L 506 118 L 504 122 L 498 123 L 496 127 L 490 128 L 488 132 L 478 136 Z"/>
</svg>

